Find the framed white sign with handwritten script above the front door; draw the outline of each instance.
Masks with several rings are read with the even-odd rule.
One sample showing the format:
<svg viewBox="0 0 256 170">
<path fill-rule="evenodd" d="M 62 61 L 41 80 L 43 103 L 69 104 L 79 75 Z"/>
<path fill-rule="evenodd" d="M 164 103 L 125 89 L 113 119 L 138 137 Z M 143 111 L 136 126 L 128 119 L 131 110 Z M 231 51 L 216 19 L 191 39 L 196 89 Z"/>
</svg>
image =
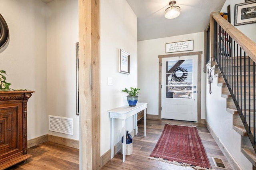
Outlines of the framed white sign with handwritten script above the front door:
<svg viewBox="0 0 256 170">
<path fill-rule="evenodd" d="M 165 44 L 165 53 L 173 53 L 179 51 L 192 51 L 194 49 L 194 40 L 172 42 Z"/>
</svg>

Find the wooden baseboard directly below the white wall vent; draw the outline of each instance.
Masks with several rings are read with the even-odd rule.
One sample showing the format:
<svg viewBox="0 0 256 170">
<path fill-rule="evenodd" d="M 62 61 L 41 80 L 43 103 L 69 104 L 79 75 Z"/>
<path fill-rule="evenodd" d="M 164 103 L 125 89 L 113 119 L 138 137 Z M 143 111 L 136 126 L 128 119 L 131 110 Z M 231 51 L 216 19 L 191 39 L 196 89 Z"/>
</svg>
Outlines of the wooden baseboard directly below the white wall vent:
<svg viewBox="0 0 256 170">
<path fill-rule="evenodd" d="M 59 136 L 52 136 L 48 134 L 48 141 L 79 149 L 79 140 L 62 138 Z"/>
</svg>

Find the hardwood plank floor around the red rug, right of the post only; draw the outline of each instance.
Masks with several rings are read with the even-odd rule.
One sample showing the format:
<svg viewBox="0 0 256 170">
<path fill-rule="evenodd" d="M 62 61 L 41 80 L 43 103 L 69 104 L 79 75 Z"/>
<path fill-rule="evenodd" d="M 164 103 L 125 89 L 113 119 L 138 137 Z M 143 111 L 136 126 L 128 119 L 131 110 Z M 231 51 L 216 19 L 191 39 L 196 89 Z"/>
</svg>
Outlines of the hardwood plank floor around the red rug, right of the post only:
<svg viewBox="0 0 256 170">
<path fill-rule="evenodd" d="M 174 125 L 195 125 L 198 128 L 198 133 L 204 147 L 206 149 L 206 154 L 212 166 L 212 169 L 221 170 L 216 168 L 212 157 L 221 158 L 226 168 L 232 170 L 230 164 L 226 160 L 225 156 L 222 154 L 220 148 L 214 141 L 214 138 L 210 134 L 209 130 L 204 125 L 199 125 L 197 123 L 191 123 L 186 121 L 174 121 L 174 120 L 152 120 L 147 119 L 146 121 L 146 137 L 144 137 L 144 119 L 138 121 L 139 132 L 136 136 L 132 138 L 133 143 L 133 153 L 126 156 L 126 161 L 122 162 L 122 154 L 119 152 L 114 156 L 112 160 L 109 160 L 101 169 L 102 170 L 170 170 L 174 169 L 172 164 L 165 162 L 148 159 L 148 156 L 154 149 L 158 139 L 161 136 L 164 125 L 174 124 Z"/>
</svg>

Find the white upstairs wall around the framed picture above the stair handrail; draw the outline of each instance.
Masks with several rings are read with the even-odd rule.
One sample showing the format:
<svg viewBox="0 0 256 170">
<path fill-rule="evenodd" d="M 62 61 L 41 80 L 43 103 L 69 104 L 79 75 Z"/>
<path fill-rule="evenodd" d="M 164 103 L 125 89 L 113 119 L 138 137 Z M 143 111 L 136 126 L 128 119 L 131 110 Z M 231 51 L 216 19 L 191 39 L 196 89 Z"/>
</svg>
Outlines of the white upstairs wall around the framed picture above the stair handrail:
<svg viewBox="0 0 256 170">
<path fill-rule="evenodd" d="M 235 4 L 241 4 L 244 3 L 244 0 L 226 0 L 225 4 L 223 5 L 221 12 L 228 12 L 227 7 L 230 5 L 230 13 L 231 13 L 231 24 L 234 26 L 234 11 L 235 11 Z M 245 24 L 240 26 L 235 26 L 238 30 L 240 30 L 242 33 L 244 33 L 248 38 L 250 38 L 252 41 L 256 42 L 256 23 L 254 24 Z"/>
</svg>

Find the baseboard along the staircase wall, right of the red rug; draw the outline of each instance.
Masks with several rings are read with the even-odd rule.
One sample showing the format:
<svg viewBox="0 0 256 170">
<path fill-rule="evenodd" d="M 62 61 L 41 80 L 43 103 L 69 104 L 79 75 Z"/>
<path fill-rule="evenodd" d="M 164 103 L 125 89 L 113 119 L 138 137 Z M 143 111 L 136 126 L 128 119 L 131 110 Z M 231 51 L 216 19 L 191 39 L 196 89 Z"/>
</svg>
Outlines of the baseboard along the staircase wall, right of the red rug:
<svg viewBox="0 0 256 170">
<path fill-rule="evenodd" d="M 227 148 L 222 144 L 222 142 L 220 141 L 220 139 L 218 138 L 218 136 L 215 134 L 214 130 L 212 129 L 212 127 L 210 127 L 210 125 L 208 124 L 208 122 L 205 120 L 205 126 L 208 128 L 208 130 L 210 131 L 210 133 L 212 134 L 212 137 L 214 138 L 215 142 L 218 144 L 220 150 L 222 151 L 222 153 L 224 154 L 224 156 L 227 158 L 230 166 L 234 169 L 234 170 L 242 170 L 242 168 L 238 165 L 238 163 L 236 162 L 236 160 L 234 159 L 234 157 L 230 154 L 230 152 L 228 152 Z"/>
</svg>

